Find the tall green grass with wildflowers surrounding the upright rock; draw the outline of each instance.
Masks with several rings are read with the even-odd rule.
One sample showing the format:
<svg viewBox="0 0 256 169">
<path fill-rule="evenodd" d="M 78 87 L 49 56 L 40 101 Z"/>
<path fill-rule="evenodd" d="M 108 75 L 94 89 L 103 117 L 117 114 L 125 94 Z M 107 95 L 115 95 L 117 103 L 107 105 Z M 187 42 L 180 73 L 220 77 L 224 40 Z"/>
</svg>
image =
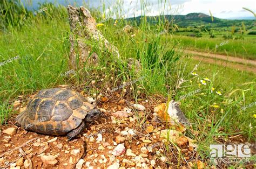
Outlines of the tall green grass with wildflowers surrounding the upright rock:
<svg viewBox="0 0 256 169">
<path fill-rule="evenodd" d="M 50 12 L 51 8 L 48 9 Z M 241 109 L 255 101 L 255 75 L 217 65 L 199 64 L 179 52 L 183 46 L 190 44 L 192 48 L 199 46 L 203 50 L 206 41 L 211 49 L 220 39 L 201 38 L 195 45 L 196 39 L 190 37 L 170 38 L 168 33 L 159 35 L 164 30 L 164 24 L 159 23 L 152 29 L 146 21 L 135 27 L 135 36 L 131 37 L 133 33 L 123 31 L 127 24 L 125 20 L 119 19 L 114 26 L 114 20 L 109 19 L 99 29 L 118 47 L 120 59 L 99 51 L 97 44 L 91 43 L 99 55 L 99 64 L 95 67 L 85 65 L 76 74 L 61 76 L 60 74 L 69 71 L 70 28 L 67 13 L 55 13 L 51 18 L 45 17 L 44 13 L 30 16 L 23 21 L 22 27 L 9 25 L 8 29 L 0 32 L 0 61 L 20 56 L 18 60 L 0 67 L 2 123 L 6 123 L 11 114 L 17 114 L 12 105 L 19 95 L 26 98 L 38 90 L 63 84 L 71 85 L 90 96 L 106 95 L 107 88 L 114 89 L 123 82 L 144 77 L 127 86 L 126 91 L 118 90 L 117 93 L 120 97 L 135 101 L 147 97 L 157 101 L 159 95 L 166 100 L 179 100 L 180 96 L 201 89 L 200 93 L 180 101 L 186 117 L 191 123 L 197 124 L 192 125 L 192 129 L 198 131 L 198 135 L 190 132 L 186 135 L 197 140 L 201 158 L 207 159 L 210 144 L 225 143 L 231 136 L 240 134 L 246 141 L 255 142 L 255 119 L 252 117 L 255 107 L 244 111 Z M 97 17 L 97 20 L 103 19 Z M 255 48 L 250 43 L 230 41 L 225 48 L 230 53 L 234 48 L 238 56 L 245 57 L 245 53 L 238 50 L 239 46 L 247 49 L 246 58 L 255 59 L 252 57 Z M 131 69 L 127 68 L 127 58 L 139 60 L 141 67 L 138 70 L 135 65 Z M 197 64 L 198 68 L 194 69 Z M 196 72 L 198 76 L 191 75 L 192 72 Z M 207 85 L 199 85 L 204 78 L 210 81 L 206 81 Z M 92 80 L 96 81 L 94 85 Z M 213 93 L 212 87 L 215 88 Z M 220 91 L 222 95 L 215 91 Z"/>
</svg>

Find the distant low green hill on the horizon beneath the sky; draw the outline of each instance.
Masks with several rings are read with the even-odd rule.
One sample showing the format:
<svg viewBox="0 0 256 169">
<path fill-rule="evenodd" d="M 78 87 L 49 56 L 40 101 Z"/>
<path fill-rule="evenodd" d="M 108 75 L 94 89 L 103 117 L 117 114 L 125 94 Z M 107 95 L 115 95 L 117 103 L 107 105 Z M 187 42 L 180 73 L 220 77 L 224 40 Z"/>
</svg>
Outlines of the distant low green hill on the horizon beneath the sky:
<svg viewBox="0 0 256 169">
<path fill-rule="evenodd" d="M 140 18 L 127 18 L 127 20 L 137 20 L 140 23 Z M 239 20 L 239 19 L 220 19 L 213 17 L 213 21 L 211 16 L 208 16 L 204 13 L 188 13 L 187 15 L 165 15 L 165 16 L 148 16 L 147 21 L 156 24 L 160 20 L 168 20 L 169 23 L 177 24 L 179 27 L 187 27 L 187 26 L 211 26 L 211 27 L 228 27 L 232 25 L 241 25 L 243 22 L 245 25 L 253 25 L 254 20 Z"/>
</svg>

